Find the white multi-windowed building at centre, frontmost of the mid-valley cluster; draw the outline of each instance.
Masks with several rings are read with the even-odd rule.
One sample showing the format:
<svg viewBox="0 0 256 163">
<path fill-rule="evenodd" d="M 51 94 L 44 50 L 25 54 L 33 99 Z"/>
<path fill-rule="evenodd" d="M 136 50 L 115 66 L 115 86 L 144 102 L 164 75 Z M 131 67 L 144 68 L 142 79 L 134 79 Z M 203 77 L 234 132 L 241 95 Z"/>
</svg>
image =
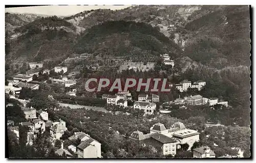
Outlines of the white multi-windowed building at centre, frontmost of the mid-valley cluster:
<svg viewBox="0 0 256 163">
<path fill-rule="evenodd" d="M 133 105 L 134 109 L 143 109 L 145 114 L 154 114 L 157 105 L 147 101 L 136 101 Z"/>
</svg>

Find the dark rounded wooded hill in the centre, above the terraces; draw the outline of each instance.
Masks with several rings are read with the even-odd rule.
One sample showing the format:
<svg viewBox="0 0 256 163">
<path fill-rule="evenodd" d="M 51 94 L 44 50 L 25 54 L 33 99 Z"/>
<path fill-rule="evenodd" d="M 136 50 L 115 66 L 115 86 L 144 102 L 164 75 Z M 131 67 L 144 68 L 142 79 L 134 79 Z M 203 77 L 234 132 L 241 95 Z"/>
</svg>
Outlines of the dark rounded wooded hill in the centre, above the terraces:
<svg viewBox="0 0 256 163">
<path fill-rule="evenodd" d="M 86 30 L 75 45 L 75 52 L 150 56 L 162 53 L 177 55 L 181 51 L 157 28 L 144 23 L 113 21 Z"/>
</svg>

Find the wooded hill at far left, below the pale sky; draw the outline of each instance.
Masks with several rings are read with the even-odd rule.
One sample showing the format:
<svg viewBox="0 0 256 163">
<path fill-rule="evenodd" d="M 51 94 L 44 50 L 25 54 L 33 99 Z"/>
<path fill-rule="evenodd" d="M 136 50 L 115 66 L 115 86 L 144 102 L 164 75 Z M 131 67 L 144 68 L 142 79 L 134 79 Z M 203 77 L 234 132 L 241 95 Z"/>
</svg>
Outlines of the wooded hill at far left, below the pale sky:
<svg viewBox="0 0 256 163">
<path fill-rule="evenodd" d="M 6 49 L 6 57 L 11 60 L 65 59 L 72 53 L 77 36 L 75 27 L 57 16 L 36 19 L 14 32 L 17 37 L 9 38 L 10 46 Z"/>
</svg>

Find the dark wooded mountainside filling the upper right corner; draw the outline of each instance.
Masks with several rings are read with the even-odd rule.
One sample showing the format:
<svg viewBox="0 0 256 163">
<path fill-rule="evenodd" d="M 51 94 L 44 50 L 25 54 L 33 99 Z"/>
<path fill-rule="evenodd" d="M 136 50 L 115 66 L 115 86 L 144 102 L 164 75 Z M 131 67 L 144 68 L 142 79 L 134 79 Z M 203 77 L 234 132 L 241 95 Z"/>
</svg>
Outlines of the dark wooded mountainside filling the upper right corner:
<svg viewBox="0 0 256 163">
<path fill-rule="evenodd" d="M 248 6 L 225 6 L 210 11 L 186 24 L 184 54 L 216 68 L 250 66 L 249 24 Z"/>
</svg>

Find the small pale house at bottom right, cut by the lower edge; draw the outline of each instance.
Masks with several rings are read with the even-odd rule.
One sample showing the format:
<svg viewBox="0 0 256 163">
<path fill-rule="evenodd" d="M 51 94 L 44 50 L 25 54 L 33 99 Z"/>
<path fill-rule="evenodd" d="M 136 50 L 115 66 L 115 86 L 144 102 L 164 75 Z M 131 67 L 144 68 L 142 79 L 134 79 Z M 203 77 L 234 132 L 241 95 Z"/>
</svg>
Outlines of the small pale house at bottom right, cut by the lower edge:
<svg viewBox="0 0 256 163">
<path fill-rule="evenodd" d="M 209 147 L 195 148 L 193 151 L 194 158 L 215 158 L 214 151 L 210 150 Z"/>
</svg>

